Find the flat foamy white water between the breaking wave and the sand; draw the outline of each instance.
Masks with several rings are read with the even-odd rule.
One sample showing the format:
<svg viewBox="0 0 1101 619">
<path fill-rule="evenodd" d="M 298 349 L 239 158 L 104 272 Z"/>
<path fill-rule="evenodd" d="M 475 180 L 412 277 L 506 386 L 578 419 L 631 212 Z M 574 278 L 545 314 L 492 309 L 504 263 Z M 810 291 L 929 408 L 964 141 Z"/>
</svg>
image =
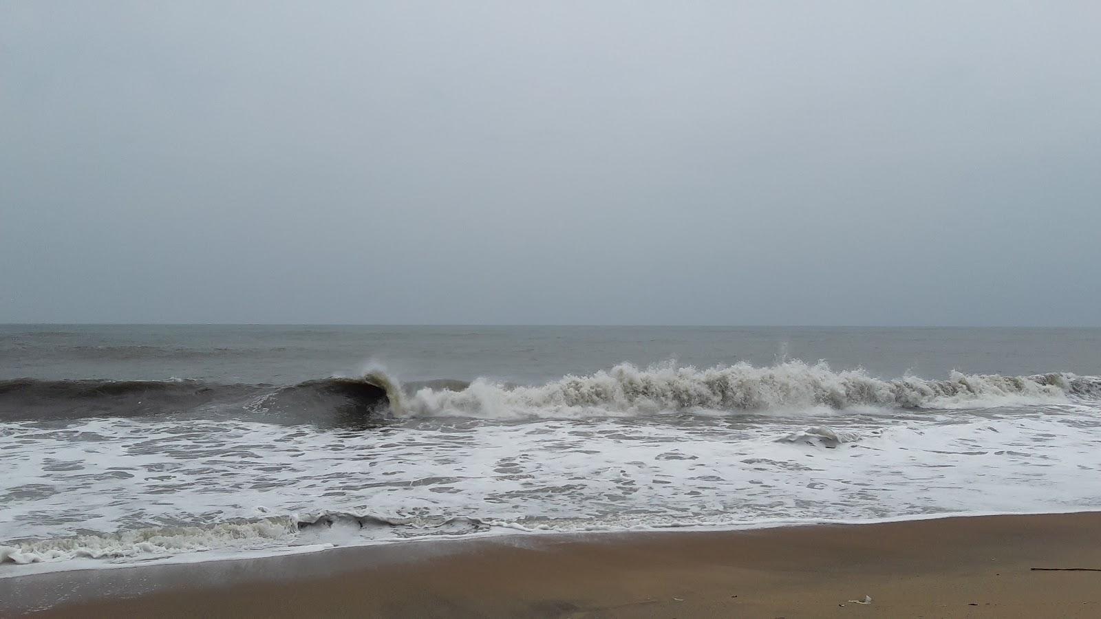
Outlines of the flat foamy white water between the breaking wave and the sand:
<svg viewBox="0 0 1101 619">
<path fill-rule="evenodd" d="M 331 431 L 233 420 L 0 424 L 0 563 L 126 565 L 500 530 L 1101 507 L 1088 403 Z M 0 577 L 34 566 L 0 566 Z"/>
</svg>

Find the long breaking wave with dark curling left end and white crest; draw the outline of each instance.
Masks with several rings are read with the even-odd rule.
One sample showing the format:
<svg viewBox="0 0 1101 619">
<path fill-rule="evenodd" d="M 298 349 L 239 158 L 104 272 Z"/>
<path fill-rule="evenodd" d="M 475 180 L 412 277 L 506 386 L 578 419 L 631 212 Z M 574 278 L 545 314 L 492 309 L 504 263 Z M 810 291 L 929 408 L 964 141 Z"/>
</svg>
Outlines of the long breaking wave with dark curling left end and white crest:
<svg viewBox="0 0 1101 619">
<path fill-rule="evenodd" d="M 458 416 L 542 419 L 680 411 L 803 410 L 815 406 L 981 409 L 1050 404 L 1068 397 L 1101 399 L 1101 378 L 1069 373 L 1029 377 L 966 374 L 945 380 L 879 379 L 825 362 L 786 361 L 697 369 L 621 363 L 542 385 L 434 380 L 402 384 L 382 369 L 358 378 L 296 384 L 219 384 L 198 380 L 0 381 L 0 421 L 137 417 L 205 413 L 259 415 L 272 423 L 363 425 L 388 419 Z"/>
</svg>

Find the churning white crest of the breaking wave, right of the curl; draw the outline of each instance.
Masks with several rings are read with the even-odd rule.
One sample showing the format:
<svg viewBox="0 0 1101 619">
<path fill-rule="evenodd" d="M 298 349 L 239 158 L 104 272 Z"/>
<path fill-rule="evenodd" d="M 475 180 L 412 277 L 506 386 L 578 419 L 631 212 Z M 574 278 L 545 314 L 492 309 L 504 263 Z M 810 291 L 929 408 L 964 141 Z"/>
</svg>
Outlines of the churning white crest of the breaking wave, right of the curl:
<svg viewBox="0 0 1101 619">
<path fill-rule="evenodd" d="M 392 404 L 399 416 L 477 419 L 568 419 L 819 405 L 982 409 L 1066 402 L 1073 378 L 953 371 L 947 380 L 883 380 L 859 369 L 833 371 L 825 362 L 786 361 L 763 368 L 737 363 L 702 370 L 674 363 L 646 369 L 621 363 L 608 371 L 567 376 L 538 387 L 509 387 L 479 379 L 458 391 L 421 389 L 411 397 L 392 398 Z M 386 380 L 389 391 L 392 379 Z"/>
</svg>

